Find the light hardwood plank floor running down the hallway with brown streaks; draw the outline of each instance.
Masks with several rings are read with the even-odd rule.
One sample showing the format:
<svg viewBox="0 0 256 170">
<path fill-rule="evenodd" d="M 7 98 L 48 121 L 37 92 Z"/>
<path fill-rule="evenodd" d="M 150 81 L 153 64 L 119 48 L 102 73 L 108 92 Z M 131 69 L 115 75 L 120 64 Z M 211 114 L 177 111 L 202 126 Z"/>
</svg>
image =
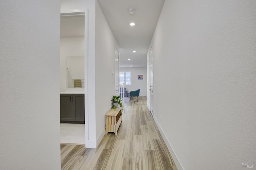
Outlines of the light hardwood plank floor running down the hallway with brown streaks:
<svg viewBox="0 0 256 170">
<path fill-rule="evenodd" d="M 118 135 L 109 132 L 97 149 L 60 145 L 62 170 L 177 170 L 146 100 L 125 102 Z"/>
</svg>

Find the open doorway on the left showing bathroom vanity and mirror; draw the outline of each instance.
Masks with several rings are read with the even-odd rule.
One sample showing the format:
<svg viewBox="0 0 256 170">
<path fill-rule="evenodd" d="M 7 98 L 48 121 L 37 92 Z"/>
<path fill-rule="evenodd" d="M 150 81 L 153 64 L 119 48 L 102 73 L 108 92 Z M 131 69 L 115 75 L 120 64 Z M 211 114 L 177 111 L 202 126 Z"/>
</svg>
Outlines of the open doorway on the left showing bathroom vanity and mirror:
<svg viewBox="0 0 256 170">
<path fill-rule="evenodd" d="M 83 64 L 85 63 L 85 14 L 78 12 L 60 14 L 60 16 L 60 96 L 66 94 L 72 96 L 68 98 L 70 107 L 63 106 L 60 102 L 60 110 L 62 110 L 60 117 L 70 117 L 68 122 L 60 123 L 60 143 L 85 145 L 85 113 L 82 108 L 84 100 L 75 99 L 75 96 L 83 96 L 86 88 Z M 75 80 L 79 80 L 78 86 Z M 83 120 L 76 119 L 78 114 Z"/>
</svg>

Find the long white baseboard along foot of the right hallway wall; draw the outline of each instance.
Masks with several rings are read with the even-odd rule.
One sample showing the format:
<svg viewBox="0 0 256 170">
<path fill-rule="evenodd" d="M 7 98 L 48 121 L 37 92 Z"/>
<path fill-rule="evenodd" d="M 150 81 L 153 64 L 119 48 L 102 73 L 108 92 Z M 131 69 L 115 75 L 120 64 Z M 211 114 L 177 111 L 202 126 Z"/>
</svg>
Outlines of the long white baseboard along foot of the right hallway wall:
<svg viewBox="0 0 256 170">
<path fill-rule="evenodd" d="M 156 119 L 155 116 L 154 116 L 154 121 L 156 122 L 156 125 L 157 125 L 157 127 L 158 127 L 158 129 L 159 129 L 159 131 L 160 131 L 160 133 L 161 133 L 161 135 L 162 135 L 162 137 L 163 137 L 163 139 L 164 139 L 164 142 L 166 143 L 166 146 L 167 146 L 167 148 L 168 148 L 170 154 L 172 155 L 172 159 L 174 160 L 174 163 L 175 163 L 177 169 L 178 169 L 178 170 L 183 170 L 183 168 L 182 168 L 182 166 L 181 166 L 181 164 L 180 164 L 180 161 L 178 160 L 176 154 L 174 153 L 174 151 L 173 151 L 173 149 L 172 149 L 172 146 L 170 145 L 170 143 L 169 143 L 169 141 L 168 141 L 168 139 L 167 139 L 167 137 L 166 137 L 166 135 L 165 135 L 165 133 L 164 133 L 162 127 L 161 127 L 160 124 L 158 123 L 158 121 L 157 121 L 157 119 Z"/>
</svg>

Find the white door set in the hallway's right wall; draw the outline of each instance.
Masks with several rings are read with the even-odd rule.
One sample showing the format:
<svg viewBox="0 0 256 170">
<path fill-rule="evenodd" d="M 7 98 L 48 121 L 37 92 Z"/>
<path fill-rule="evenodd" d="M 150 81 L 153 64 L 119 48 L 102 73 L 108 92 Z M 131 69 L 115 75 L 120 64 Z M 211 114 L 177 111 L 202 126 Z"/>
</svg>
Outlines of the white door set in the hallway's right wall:
<svg viewBox="0 0 256 170">
<path fill-rule="evenodd" d="M 154 115 L 154 88 L 153 88 L 153 50 L 149 53 L 149 72 L 150 72 L 150 112 Z"/>
</svg>

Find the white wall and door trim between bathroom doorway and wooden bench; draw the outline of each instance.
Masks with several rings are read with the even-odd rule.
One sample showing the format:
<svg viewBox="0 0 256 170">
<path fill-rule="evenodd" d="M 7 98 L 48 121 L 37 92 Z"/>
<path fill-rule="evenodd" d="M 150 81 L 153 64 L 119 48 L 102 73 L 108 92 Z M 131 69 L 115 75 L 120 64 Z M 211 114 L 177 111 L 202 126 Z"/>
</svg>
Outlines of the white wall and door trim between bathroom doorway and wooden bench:
<svg viewBox="0 0 256 170">
<path fill-rule="evenodd" d="M 97 1 L 62 0 L 61 13 L 70 12 L 85 12 L 85 145 L 96 148 L 104 136 L 105 114 L 115 91 L 112 70 L 118 45 Z"/>
</svg>

